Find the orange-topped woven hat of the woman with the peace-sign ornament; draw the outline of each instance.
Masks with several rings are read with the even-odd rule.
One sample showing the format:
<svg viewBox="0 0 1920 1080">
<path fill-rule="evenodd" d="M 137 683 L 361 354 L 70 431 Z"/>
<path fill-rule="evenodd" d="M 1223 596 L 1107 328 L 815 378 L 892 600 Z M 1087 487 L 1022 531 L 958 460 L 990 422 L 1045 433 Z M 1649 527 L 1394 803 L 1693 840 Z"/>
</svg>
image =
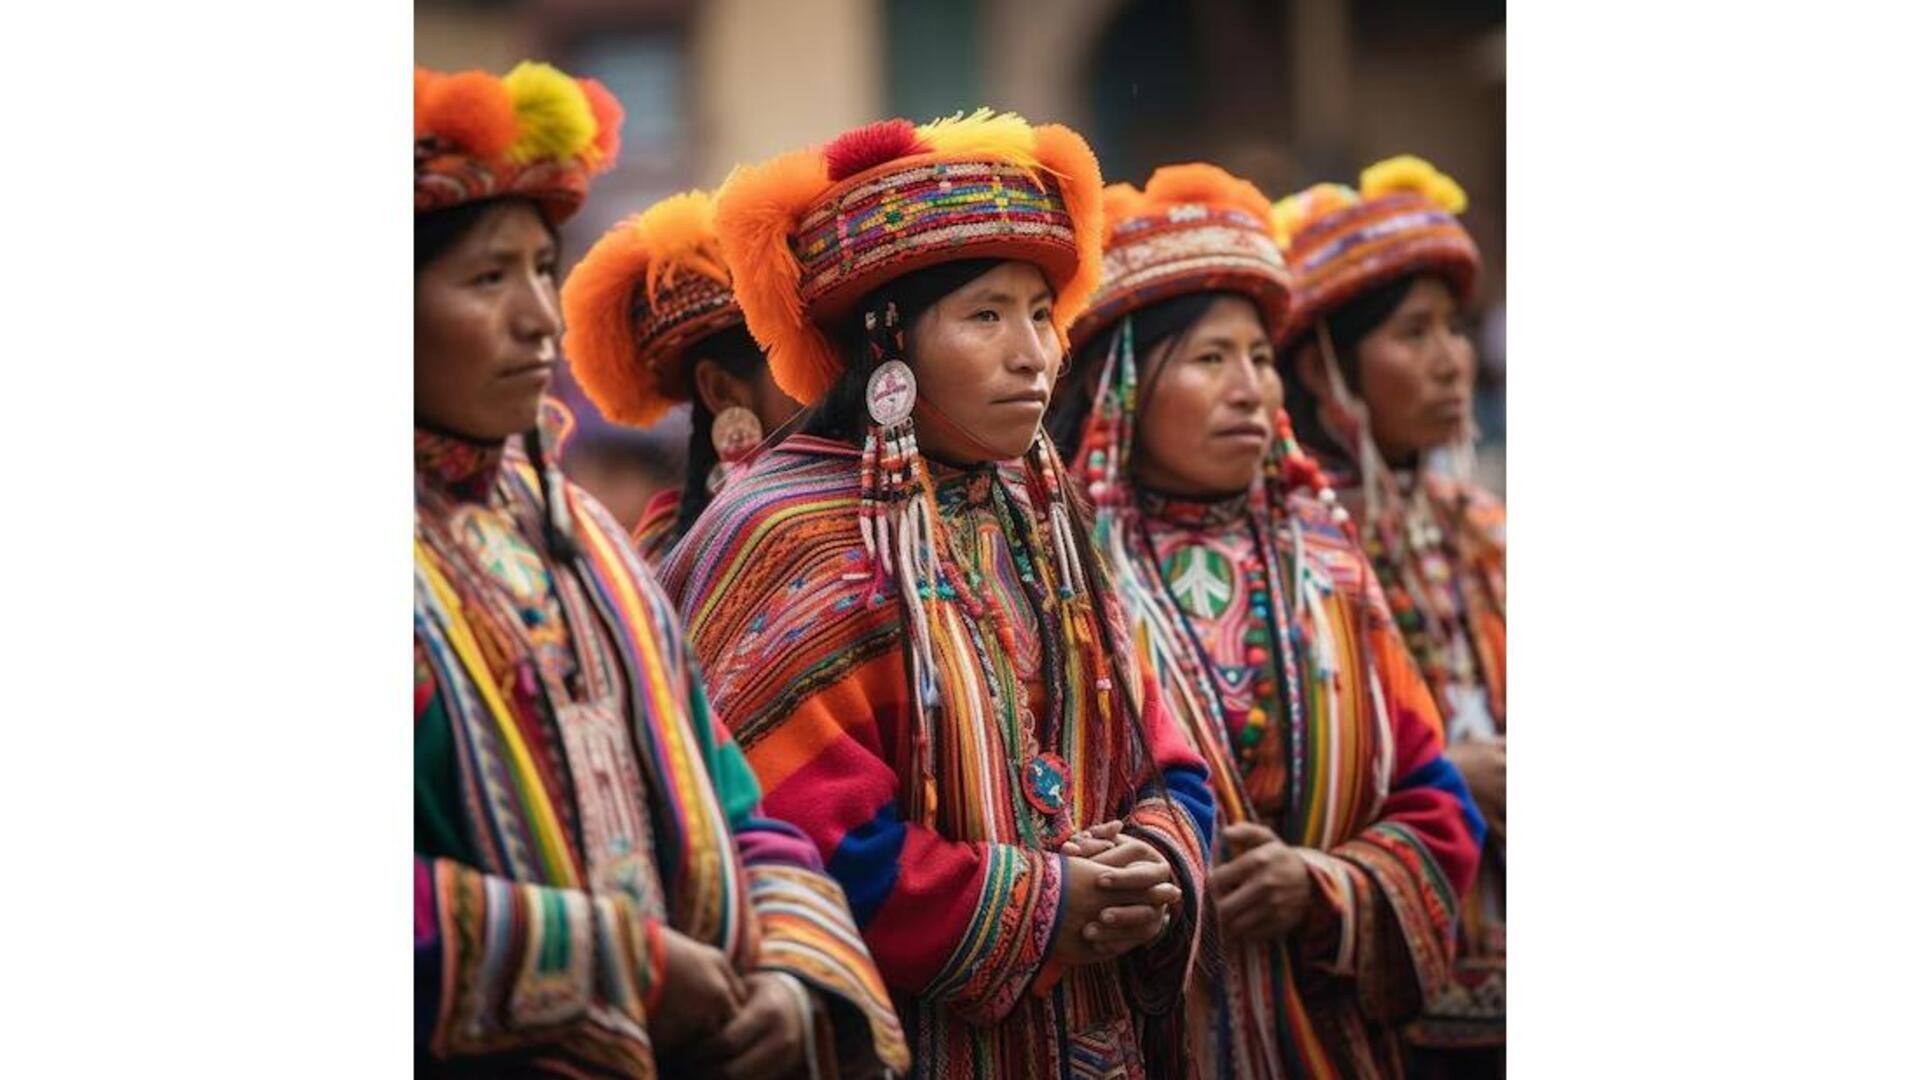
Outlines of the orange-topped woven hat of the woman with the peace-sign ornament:
<svg viewBox="0 0 1920 1080">
<path fill-rule="evenodd" d="M 1106 188 L 1100 290 L 1073 323 L 1085 344 L 1119 319 L 1190 292 L 1242 292 L 1286 325 L 1292 275 L 1260 188 L 1219 165 L 1165 165 L 1146 181 Z"/>
</svg>

